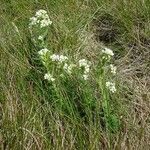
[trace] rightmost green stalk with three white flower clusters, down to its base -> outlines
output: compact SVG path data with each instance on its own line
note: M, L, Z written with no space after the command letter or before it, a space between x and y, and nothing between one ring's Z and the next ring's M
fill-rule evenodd
M110 59L114 56L114 52L109 48L103 48L102 57L99 59L97 76L99 76L99 86L102 96L102 108L104 111L104 120L106 125L106 131L108 132L108 137L111 139L111 133L114 131L118 124L113 124L114 116L113 110L110 104L110 95L117 91L115 82L107 81L109 76L114 77L117 71L117 67L110 64ZM117 117L116 117L117 118ZM112 120L112 123L111 123Z

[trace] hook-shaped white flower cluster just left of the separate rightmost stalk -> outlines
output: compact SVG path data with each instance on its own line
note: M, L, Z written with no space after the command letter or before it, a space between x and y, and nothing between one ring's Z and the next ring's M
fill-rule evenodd
M91 65L91 63L89 61L87 61L86 59L79 60L79 67L84 67L84 74L83 74L84 80L88 79L88 73L90 71L90 65Z

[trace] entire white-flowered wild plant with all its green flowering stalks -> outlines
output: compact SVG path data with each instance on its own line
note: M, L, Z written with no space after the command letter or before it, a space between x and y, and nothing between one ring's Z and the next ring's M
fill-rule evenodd
M74 85L73 82L78 82L78 80L79 82L82 81L87 83L86 86L88 86L88 84L90 85L89 81L90 73L92 71L92 63L85 58L81 58L78 61L72 61L67 55L53 53L51 50L49 50L44 39L48 34L48 26L51 24L52 21L50 20L48 13L45 10L39 10L36 12L34 17L30 18L29 29L31 31L31 35L35 35L33 38L35 44L40 48L38 54L46 69L46 73L43 75L43 78L50 82L54 87L57 97L60 98L61 106L67 105L67 107L70 107L70 105L68 106L68 104L64 104L62 101L67 85L61 85L61 81L65 81L67 84L69 84L69 82L74 79L72 80L72 85ZM35 32L33 32L34 29L36 29ZM104 110L106 129L110 132L112 128L110 125L110 120L112 121L112 118L114 118L111 117L110 94L115 93L117 89L115 82L110 80L108 77L114 77L117 68L113 64L110 64L110 60L114 56L113 51L109 48L103 48L101 52L101 58L97 65L97 76L102 95L102 107ZM68 79L70 79L70 81L68 81ZM63 94L60 92L62 90ZM85 93L88 92L89 91L86 91ZM88 97L87 99L91 101L92 97ZM89 101L86 100L86 106L88 106L87 104L89 104Z

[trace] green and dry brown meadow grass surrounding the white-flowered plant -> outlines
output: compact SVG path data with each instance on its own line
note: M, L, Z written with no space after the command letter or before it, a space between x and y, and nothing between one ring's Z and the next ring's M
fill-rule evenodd
M73 62L92 62L88 83L67 78L54 90L43 79L46 69L28 29L29 18L39 9L47 10L53 21L47 47ZM2 150L149 149L148 0L1 0L0 14ZM103 46L114 51L117 66L117 92L109 94L109 103L119 128L111 137L96 74Z

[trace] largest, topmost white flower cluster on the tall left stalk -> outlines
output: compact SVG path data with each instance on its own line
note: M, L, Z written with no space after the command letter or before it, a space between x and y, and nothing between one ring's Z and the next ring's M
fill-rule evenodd
M34 17L30 18L30 24L29 27L34 25L40 25L41 28L47 27L52 24L52 21L50 20L47 11L45 10L38 10Z

